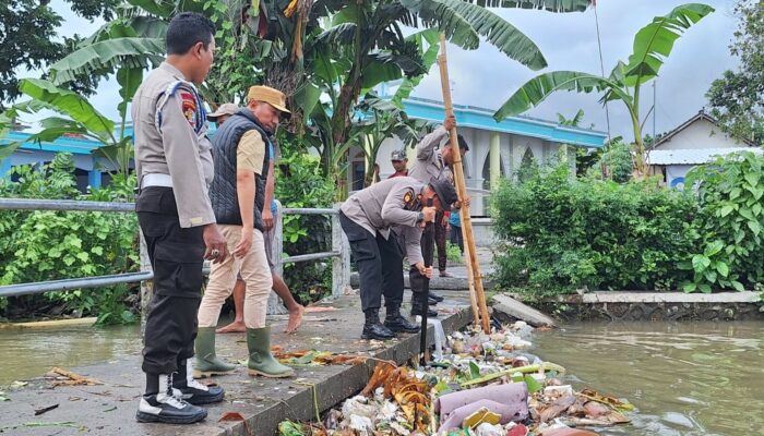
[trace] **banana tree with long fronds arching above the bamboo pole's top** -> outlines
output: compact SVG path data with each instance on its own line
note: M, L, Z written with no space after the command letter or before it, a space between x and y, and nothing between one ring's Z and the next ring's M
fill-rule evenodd
M343 143L350 129L350 114L358 97L372 84L403 74L421 74L421 59L410 56L402 27L435 28L465 49L475 49L484 37L509 58L539 70L547 65L539 48L487 8L535 8L554 12L583 11L590 0L379 0L345 2L318 1L313 9L332 14L333 26L319 39L333 53L344 56L348 69L337 82L338 100L332 113L334 142ZM385 53L380 57L380 53ZM403 74L402 74L403 73Z

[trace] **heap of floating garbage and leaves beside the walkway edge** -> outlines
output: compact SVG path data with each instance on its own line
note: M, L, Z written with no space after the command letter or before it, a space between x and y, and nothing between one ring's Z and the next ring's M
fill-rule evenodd
M454 332L442 358L426 367L380 362L363 390L322 422L284 421L279 434L587 436L597 433L580 427L630 422L628 401L588 388L576 391L563 384L564 367L526 353L533 330L516 322L491 335Z

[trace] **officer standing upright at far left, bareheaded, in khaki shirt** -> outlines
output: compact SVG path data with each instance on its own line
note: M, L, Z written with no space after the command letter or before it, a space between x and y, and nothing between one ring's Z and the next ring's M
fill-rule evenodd
M154 268L143 349L146 390L139 422L190 424L206 417L195 405L223 400L223 389L191 374L202 263L227 257L207 189L213 179L206 114L194 84L213 62L215 28L198 13L176 15L167 28L167 59L135 92L135 202Z

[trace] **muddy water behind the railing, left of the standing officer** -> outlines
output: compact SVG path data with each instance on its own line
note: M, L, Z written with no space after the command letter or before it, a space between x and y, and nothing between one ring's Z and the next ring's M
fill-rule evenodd
M39 377L53 366L108 362L142 349L140 325L0 328L0 386Z

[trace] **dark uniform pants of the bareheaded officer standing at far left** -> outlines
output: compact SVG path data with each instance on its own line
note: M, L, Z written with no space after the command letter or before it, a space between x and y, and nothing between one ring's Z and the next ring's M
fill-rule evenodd
M193 356L202 301L203 228L183 229L171 187L141 190L135 211L154 268L154 296L146 318L143 372L170 374Z

